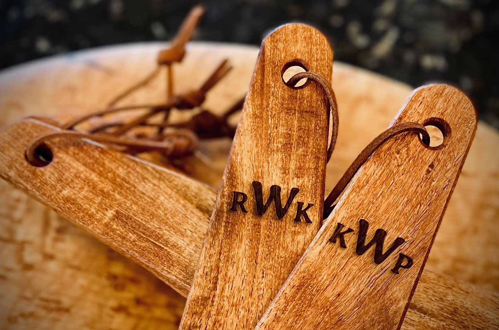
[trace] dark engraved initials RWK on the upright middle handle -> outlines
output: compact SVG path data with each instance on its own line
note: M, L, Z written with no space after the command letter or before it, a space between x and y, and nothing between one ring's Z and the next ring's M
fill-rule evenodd
M284 206L282 206L281 187L277 185L272 185L270 187L270 193L268 195L268 199L265 202L265 204L263 204L263 191L261 183L258 181L253 181L251 185L253 186L255 210L260 217L267 212L268 208L270 207L270 204L272 204L273 202L275 207L275 215L277 216L277 219L284 218L291 204L293 203L294 198L300 191L298 188L292 188L289 193L289 196L287 197L286 203L284 204ZM240 191L234 191L232 205L229 210L237 212L239 207L239 210L241 210L241 212L248 213L245 207L245 203L247 201L248 201L247 194ZM313 204L308 203L308 205L305 208L303 208L303 205L304 205L303 202L296 202L296 216L294 217L293 221L300 222L301 218L303 218L306 223L311 224L312 221L308 217L307 210L310 209L313 206Z

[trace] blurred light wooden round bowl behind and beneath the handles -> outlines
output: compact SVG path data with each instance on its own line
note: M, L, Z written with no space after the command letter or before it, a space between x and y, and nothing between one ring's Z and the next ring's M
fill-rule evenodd
M104 48L5 70L0 74L0 122L32 114L64 121L98 109L151 69L160 47ZM203 73L229 57L235 68L208 95L206 107L223 111L244 95L257 48L193 43L188 49L184 62L175 67L177 91L196 86L205 78ZM155 80L123 104L161 101L163 83L164 79ZM333 67L333 88L340 127L326 192L358 152L388 126L411 91L339 63ZM425 268L492 291L499 290L498 143L497 131L480 123ZM227 140L204 143L193 157L199 166L187 163L183 170L218 187L226 162L221 155L227 157L229 148ZM218 175L204 175L201 165ZM182 297L5 182L0 187L2 329L177 327Z

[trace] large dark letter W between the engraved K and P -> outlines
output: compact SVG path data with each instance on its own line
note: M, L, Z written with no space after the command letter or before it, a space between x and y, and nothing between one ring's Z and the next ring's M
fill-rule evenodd
M392 254L393 251L395 251L395 249L397 249L405 242L403 238L398 237L388 248L388 250L383 253L383 243L385 242L386 232L383 229L376 230L373 239L369 241L369 243L364 245L368 228L369 223L364 219L360 219L359 236L357 238L357 248L355 249L355 252L357 253L357 255L362 256L367 250L369 250L371 246L376 244L376 248L374 249L374 262L377 265L385 261L385 259L388 258L388 256Z

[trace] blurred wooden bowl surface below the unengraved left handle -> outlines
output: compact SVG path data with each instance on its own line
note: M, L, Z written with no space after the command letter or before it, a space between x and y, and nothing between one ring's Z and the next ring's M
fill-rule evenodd
M160 279L3 180L0 199L0 329L178 329Z

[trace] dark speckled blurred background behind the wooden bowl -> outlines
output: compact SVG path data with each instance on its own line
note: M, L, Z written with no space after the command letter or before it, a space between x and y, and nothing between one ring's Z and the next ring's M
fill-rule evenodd
M190 0L0 0L0 68L88 47L168 40ZM499 128L498 0L207 0L195 39L259 44L303 21L335 59L418 86L446 81Z

